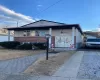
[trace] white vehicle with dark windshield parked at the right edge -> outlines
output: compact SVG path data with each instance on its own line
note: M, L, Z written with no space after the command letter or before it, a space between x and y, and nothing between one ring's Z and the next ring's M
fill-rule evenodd
M100 48L100 39L87 39L86 47Z

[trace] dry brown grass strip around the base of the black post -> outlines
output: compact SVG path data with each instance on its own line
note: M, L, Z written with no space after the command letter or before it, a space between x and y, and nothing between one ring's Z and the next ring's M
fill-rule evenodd
M49 57L49 60L41 58L37 60L33 65L28 67L24 73L34 74L34 75L53 75L57 69L68 60L75 51L60 52Z

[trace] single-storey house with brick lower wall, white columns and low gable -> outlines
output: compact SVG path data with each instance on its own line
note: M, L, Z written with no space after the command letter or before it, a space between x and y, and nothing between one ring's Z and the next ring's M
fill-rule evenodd
M49 48L76 49L82 45L83 32L78 24L65 24L54 21L39 20L21 27L6 28L8 35L14 30L14 41L45 43L45 34L50 34ZM10 37L8 36L10 41Z

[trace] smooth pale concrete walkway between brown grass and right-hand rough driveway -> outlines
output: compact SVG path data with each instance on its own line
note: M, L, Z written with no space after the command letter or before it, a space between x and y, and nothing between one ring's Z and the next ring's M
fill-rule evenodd
M78 80L77 73L80 67L83 54L83 51L79 51L74 54L69 59L69 61L65 62L65 64L53 76L65 78L62 80Z

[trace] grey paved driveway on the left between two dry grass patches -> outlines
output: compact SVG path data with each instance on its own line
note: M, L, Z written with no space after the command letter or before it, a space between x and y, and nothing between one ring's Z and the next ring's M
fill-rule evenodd
M1 60L0 61L0 73L4 74L19 74L22 73L28 66L35 62L39 57L45 54L37 54L33 56L26 56L22 58Z

